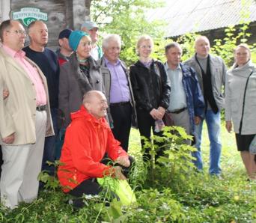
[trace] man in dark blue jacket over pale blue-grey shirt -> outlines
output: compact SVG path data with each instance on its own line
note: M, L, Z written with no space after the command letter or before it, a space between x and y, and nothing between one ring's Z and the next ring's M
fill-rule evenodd
M171 112L175 126L181 126L187 134L193 135L195 125L204 117L204 97L195 71L180 63L181 55L182 49L178 43L165 46L165 70L171 82L168 112ZM191 144L191 141L187 140L186 143Z

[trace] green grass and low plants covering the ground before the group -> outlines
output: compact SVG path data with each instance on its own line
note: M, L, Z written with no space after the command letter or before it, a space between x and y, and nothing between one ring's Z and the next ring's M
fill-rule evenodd
M85 208L76 211L68 204L67 195L59 189L49 189L40 192L34 203L21 204L11 212L1 207L0 222L256 222L256 183L246 181L234 134L222 126L223 180L207 174L206 126L202 141L203 173L195 173L189 166L183 153L186 149L174 149L171 162L163 159L152 174L141 162L138 130L132 129L129 152L135 156L137 167L130 184L135 189L137 205L121 207L113 201L106 207L102 201L85 199Z

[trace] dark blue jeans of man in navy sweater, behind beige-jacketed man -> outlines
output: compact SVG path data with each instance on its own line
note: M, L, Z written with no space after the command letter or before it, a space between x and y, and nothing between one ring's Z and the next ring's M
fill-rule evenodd
M46 137L43 148L42 171L47 171L51 176L55 174L55 167L48 165L46 161L55 162L55 144L58 135L58 109L51 109L52 125L55 135Z

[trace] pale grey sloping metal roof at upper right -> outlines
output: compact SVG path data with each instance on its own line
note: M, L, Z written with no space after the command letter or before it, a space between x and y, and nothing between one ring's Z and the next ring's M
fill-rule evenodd
M242 16L246 14L246 16ZM256 21L255 0L166 0L165 7L148 13L150 20L167 23L165 37Z

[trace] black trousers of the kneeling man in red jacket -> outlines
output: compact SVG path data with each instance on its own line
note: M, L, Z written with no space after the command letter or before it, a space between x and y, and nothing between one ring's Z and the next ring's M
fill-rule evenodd
M107 159L103 159L101 162L103 164L107 164L108 161L109 160ZM127 174L129 174L129 171L131 170L135 162L132 156L129 156L129 162L131 165L128 168L122 165L119 165L122 167L123 174L125 175L125 177L127 177ZM102 190L103 188L100 186L99 183L97 183L97 179L91 178L91 179L82 181L82 183L80 183L78 186L76 186L74 189L70 190L70 192L67 192L67 193L77 198L73 200L73 206L76 208L81 208L85 205L84 202L82 201L83 199L81 198L82 195L98 195Z

